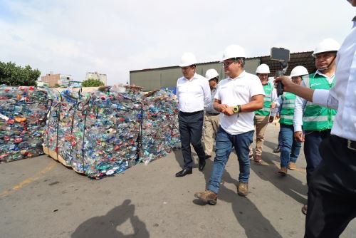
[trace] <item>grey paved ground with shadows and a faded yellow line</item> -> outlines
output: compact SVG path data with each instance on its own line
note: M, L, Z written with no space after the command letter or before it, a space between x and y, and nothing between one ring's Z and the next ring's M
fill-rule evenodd
M303 237L305 158L298 171L277 174L278 127L269 125L266 165L251 165L248 197L236 194L238 163L231 154L216 206L194 192L206 187L204 172L176 178L182 154L174 151L150 165L115 177L89 180L49 157L0 165L0 237ZM197 158L197 156L195 155ZM353 220L342 237L355 237Z

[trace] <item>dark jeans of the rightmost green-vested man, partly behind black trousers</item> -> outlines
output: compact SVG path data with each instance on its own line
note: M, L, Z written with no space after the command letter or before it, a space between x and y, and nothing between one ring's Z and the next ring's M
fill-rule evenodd
M307 184L316 167L318 167L321 156L319 153L320 143L330 137L330 130L305 130L304 155L307 161Z

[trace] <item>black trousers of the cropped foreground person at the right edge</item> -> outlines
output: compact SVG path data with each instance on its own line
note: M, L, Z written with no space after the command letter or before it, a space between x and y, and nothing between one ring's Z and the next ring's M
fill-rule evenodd
M356 151L331 135L319 152L323 160L309 184L305 237L339 237L356 217Z

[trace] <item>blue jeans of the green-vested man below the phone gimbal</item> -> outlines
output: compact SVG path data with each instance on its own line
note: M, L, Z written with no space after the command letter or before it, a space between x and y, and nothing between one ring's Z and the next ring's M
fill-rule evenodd
M289 162L296 162L302 144L294 139L293 125L281 124L281 167L288 167Z

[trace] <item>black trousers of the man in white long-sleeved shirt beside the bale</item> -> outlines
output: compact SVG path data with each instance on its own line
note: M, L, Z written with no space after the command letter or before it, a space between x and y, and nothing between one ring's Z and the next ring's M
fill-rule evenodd
M182 154L184 158L184 168L193 167L192 153L190 143L192 143L199 160L205 160L205 152L201 144L201 135L203 133L204 110L194 113L178 114L179 133L182 141Z

